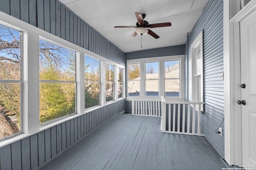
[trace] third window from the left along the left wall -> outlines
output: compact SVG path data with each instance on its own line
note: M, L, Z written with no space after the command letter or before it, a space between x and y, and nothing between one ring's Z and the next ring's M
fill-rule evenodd
M84 56L85 108L100 105L100 61Z

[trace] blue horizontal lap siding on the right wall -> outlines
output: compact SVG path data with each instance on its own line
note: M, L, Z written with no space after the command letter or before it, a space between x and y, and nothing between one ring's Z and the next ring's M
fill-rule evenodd
M223 1L209 0L192 29L185 44L185 98L191 101L191 54L190 45L203 30L204 41L204 102L202 133L224 157L224 136L215 133L224 118L224 80L219 80L223 70ZM188 54L187 54L187 47ZM188 62L187 62L188 60ZM187 89L188 86L188 89ZM224 132L224 123L221 125Z

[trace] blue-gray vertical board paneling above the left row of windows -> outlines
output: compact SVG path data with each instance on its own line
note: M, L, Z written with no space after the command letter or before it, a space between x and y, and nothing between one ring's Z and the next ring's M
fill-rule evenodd
M1 0L0 11L125 65L125 54L58 0Z

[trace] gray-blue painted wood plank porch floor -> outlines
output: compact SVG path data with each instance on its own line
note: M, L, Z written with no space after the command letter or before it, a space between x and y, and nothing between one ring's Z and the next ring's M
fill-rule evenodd
M162 133L160 117L120 114L44 166L44 170L221 170L205 137Z

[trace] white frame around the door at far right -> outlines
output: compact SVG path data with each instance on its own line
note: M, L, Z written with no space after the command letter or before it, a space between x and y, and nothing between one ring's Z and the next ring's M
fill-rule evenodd
M241 100L241 72L237 69L240 68L240 21L256 10L256 0L249 2L240 11L234 9L233 2L224 0L224 9L228 9L224 11L223 26L224 74L227 75L224 76L224 146L226 162L242 165L242 110L236 103ZM234 10L237 14L232 17Z

